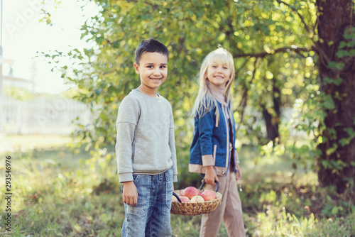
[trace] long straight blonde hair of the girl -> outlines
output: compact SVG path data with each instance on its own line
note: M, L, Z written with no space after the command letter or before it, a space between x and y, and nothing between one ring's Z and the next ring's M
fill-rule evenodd
M209 65L212 65L216 62L219 62L222 65L227 65L227 67L229 67L229 69L231 70L230 78L226 82L226 89L224 89L223 93L224 97L226 97L228 101L231 101L230 90L235 78L233 57L231 53L229 53L224 48L217 48L217 50L212 51L206 57L204 57L204 60L202 61L200 74L198 75L198 79L200 81L200 88L197 94L195 105L192 109L192 115L201 118L208 111L211 111L216 107L217 109L215 114L217 117L217 121L219 121L219 109L217 106L217 99L213 97L212 92L209 90L209 87L207 86L207 77L205 76Z

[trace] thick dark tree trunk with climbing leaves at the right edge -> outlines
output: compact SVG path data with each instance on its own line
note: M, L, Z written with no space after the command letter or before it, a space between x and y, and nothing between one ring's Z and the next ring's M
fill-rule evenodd
M354 5L352 0L317 0L316 4L320 40L315 50L319 55L320 90L332 97L335 105L334 109L326 106L325 110L318 179L321 185L336 185L337 192L343 193L354 184L355 177L354 163L351 164L355 162L355 138L344 143L351 137L347 131L355 128L355 58L339 58L336 54L341 41L351 41L344 38L344 32L355 26ZM348 52L351 49L354 47L344 48ZM329 62L344 62L345 66L329 68ZM334 82L337 78L342 78L342 83Z

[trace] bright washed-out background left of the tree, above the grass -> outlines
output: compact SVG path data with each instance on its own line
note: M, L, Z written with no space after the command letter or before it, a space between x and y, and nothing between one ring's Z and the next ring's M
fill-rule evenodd
M72 121L88 121L89 110L71 99L72 85L45 55L86 48L80 27L97 14L97 5L72 0L1 3L0 133L70 134ZM70 59L60 62L72 65L64 60ZM1 137L2 146L8 142Z

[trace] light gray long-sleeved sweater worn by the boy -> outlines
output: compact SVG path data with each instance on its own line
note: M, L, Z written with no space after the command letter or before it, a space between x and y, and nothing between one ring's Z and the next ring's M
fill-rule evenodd
M158 175L173 167L178 181L173 110L163 97L133 89L121 102L116 121L119 182L133 175Z

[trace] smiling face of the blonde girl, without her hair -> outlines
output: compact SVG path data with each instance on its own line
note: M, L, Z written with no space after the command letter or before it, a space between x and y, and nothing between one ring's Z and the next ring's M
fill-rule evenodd
M223 62L214 62L207 67L207 71L204 74L204 78L206 77L209 82L217 87L226 87L226 82L231 77L231 69Z

